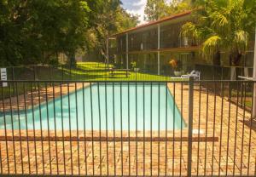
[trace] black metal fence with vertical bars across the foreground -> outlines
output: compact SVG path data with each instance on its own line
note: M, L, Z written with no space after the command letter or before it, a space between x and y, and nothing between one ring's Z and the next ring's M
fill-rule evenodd
M255 82L0 83L1 175L256 174Z

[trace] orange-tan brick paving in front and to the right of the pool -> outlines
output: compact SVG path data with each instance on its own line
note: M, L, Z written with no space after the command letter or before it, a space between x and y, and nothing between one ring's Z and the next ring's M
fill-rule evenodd
M173 83L168 87L174 95ZM222 100L212 93L207 97L205 89L201 91L201 101L199 95L199 88L195 86L192 174L253 175L256 123L251 120L251 114L227 98ZM186 123L188 99L188 86L181 87L177 83L175 101ZM69 131L63 133L64 138L61 131L44 130L41 134L41 131L29 130L26 134L26 130L8 130L5 134L1 130L1 174L187 174L187 128L160 131L160 134L154 131L153 141L148 131L145 139L142 131L138 131L137 136L136 132L130 132L130 139L125 131L123 138L119 131L115 136L113 131L108 131L108 138L105 131L101 136L94 131L93 138L91 131L86 131L85 136L84 131L72 131L71 135Z

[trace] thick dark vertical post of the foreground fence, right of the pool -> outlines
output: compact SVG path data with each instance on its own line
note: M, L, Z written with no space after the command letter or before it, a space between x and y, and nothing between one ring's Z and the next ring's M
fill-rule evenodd
M191 177L192 169L192 130L193 130L193 101L194 101L194 77L189 77L189 141L188 141L188 174Z

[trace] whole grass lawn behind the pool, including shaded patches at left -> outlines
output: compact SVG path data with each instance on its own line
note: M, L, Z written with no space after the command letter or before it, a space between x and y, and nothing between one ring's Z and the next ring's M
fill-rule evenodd
M109 65L108 67L112 67ZM8 73L9 74L9 73ZM23 68L15 71L15 80L32 80L33 76L32 68ZM71 81L180 81L184 79L173 79L171 77L158 76L154 74L147 74L142 72L129 71L128 77L122 71L115 71L114 76L111 72L106 70L106 65L98 62L79 62L76 68L67 67L38 67L36 71L37 80L71 80ZM10 75L10 74L9 74ZM40 87L44 87L44 83L40 83ZM32 89L37 89L37 85L32 84ZM10 89L10 91L9 91ZM30 83L25 84L25 90L23 88L23 83L18 83L16 85L11 84L10 88L3 88L3 93L0 88L0 99L9 98L9 95L15 95L16 91L19 94L29 92L31 90Z

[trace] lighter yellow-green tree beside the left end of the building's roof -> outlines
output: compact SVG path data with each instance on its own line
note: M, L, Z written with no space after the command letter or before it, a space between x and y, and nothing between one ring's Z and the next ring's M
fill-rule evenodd
M95 54L98 60L106 59L106 38L119 31L135 27L138 16L129 14L121 7L119 0L108 0L102 3L101 14L96 18L96 24L86 32L86 53Z

